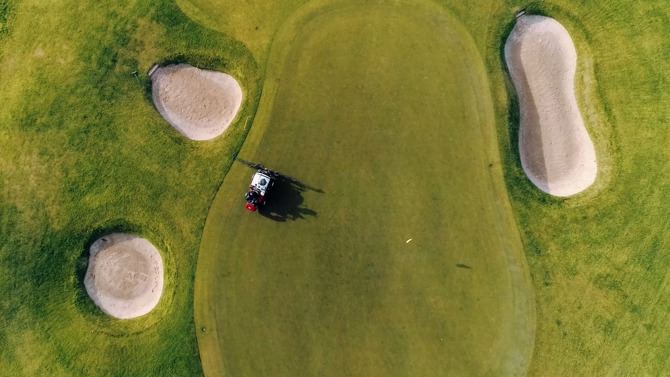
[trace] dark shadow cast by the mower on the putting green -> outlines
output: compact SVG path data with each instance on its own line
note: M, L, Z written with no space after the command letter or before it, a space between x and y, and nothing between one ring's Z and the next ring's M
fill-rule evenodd
M268 202L258 209L258 213L274 220L286 221L304 219L305 216L316 217L316 211L302 205L304 187L291 184L288 181L277 180Z

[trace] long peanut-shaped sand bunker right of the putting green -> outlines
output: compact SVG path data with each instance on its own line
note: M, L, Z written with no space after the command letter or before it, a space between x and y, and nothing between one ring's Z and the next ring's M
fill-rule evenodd
M519 95L519 151L528 178L556 196L586 189L596 178L596 155L577 107L570 34L553 18L521 16L505 60Z

